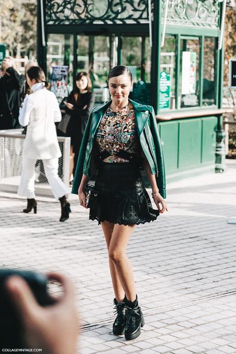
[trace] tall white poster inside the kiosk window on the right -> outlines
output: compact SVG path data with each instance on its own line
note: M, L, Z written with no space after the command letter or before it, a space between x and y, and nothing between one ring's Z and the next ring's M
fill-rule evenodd
M196 52L182 54L182 94L196 92Z

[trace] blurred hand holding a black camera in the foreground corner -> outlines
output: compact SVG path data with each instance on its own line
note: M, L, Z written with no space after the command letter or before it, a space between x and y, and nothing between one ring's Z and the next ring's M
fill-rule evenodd
M78 336L78 317L74 306L72 282L58 273L48 274L47 280L62 284L64 293L60 298L49 297L44 278L34 272L0 271L0 282L9 298L11 307L2 303L5 325L0 332L1 348L42 348L43 353L75 354ZM24 274L23 274L24 273ZM2 277L1 277L2 274ZM23 277L22 277L23 274ZM39 289L41 288L41 291ZM35 290L40 296L35 298ZM5 308L4 308L5 306ZM16 317L16 322L9 323ZM16 323L16 327L14 325ZM8 326L9 325L9 326ZM8 332L6 333L6 329ZM11 329L10 329L11 328ZM10 330L10 333L9 333ZM5 332L5 335L4 335ZM2 333L2 334L1 334ZM11 341L8 342L8 338Z

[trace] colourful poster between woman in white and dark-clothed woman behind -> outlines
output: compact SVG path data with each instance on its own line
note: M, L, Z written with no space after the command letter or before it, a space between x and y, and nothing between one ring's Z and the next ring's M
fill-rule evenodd
M52 67L51 91L56 97L68 96L68 65L55 65Z

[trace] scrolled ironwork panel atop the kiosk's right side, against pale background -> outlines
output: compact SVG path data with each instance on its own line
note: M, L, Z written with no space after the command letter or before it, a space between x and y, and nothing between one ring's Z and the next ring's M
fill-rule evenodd
M162 0L164 11L166 0ZM217 28L218 0L169 0L167 25Z

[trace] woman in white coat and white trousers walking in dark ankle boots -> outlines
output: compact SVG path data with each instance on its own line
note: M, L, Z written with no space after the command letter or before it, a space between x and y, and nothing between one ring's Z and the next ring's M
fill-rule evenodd
M58 177L58 158L61 150L57 141L55 122L62 119L61 111L53 92L46 89L44 71L37 66L26 73L27 83L33 93L26 96L19 113L19 124L27 126L23 148L23 169L18 194L27 197L28 213L37 210L34 194L35 163L42 160L48 182L55 199L60 200L62 214L60 221L69 218L70 204L66 194L70 191Z

